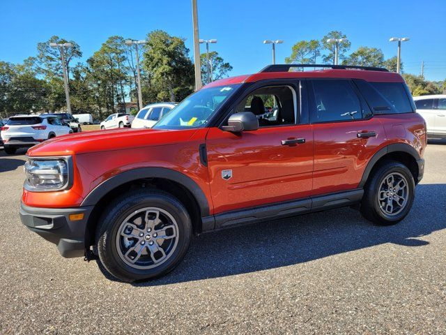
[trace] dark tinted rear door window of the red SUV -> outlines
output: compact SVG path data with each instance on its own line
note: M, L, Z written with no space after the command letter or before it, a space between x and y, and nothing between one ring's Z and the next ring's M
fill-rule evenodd
M349 80L313 80L312 84L316 105L311 122L362 119L360 99Z

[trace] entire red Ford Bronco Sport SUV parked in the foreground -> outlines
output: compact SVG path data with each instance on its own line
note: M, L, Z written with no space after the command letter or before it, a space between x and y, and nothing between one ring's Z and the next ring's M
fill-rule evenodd
M392 225L424 172L426 126L381 68L268 66L208 84L152 129L29 149L22 223L122 281L167 274L192 234L351 206ZM278 228L280 229L280 228Z

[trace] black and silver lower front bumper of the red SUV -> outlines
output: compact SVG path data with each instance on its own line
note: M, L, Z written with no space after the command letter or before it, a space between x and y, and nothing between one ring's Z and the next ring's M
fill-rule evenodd
M93 206L75 208L40 208L20 204L20 220L26 228L56 244L63 257L81 257L85 252L86 224ZM79 221L70 221L70 214L84 214Z

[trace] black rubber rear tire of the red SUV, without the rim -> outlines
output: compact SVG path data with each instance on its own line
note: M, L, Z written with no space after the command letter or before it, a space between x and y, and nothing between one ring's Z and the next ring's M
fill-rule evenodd
M392 172L398 172L406 178L406 181L408 183L409 195L408 195L408 202L406 203L406 206L403 208L403 210L399 212L399 214L390 217L386 216L380 209L378 192L385 177L387 177L387 175L391 174ZM374 212L376 216L378 216L379 221L387 225L392 225L394 223L398 223L399 221L401 221L404 217L406 217L406 215L410 211L410 208L412 207L413 204L413 200L415 198L415 181L413 180L413 175L410 173L410 170L408 170L408 168L406 168L405 165L402 165L400 163L388 163L387 165L384 165L383 168L378 170L376 178L374 178L374 183L371 187L371 197L372 197L371 202L374 207Z

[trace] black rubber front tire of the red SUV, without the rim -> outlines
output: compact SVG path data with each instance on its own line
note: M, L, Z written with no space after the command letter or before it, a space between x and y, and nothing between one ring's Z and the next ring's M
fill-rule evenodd
M187 214L183 204L175 198L162 193L139 194L125 198L127 201L118 204L100 221L102 229L98 251L102 264L110 273L124 281L141 281L166 274L180 262L189 247L192 235L190 216ZM144 207L164 209L175 218L178 225L178 244L176 249L166 262L153 269L135 269L130 267L118 255L116 247L116 234L118 234L118 228L121 223L132 212Z

